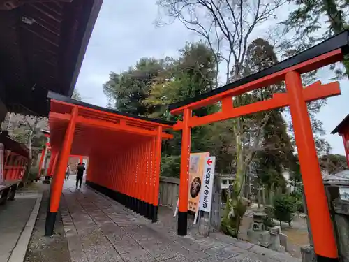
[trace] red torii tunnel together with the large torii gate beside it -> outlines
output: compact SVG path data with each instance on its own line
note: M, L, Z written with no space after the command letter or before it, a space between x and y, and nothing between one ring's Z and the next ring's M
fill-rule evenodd
M156 222L161 141L172 138L166 133L168 130L181 130L177 232L186 235L191 128L289 106L315 254L318 261L338 261L306 103L339 95L339 83L322 85L319 81L303 87L301 75L343 60L343 56L348 54L348 44L349 33L343 31L263 71L188 101L174 103L169 106L170 112L182 115L182 120L177 123L99 108L50 92L50 150L56 163L52 163L48 170L53 176L45 235L53 233L70 155L89 157L87 185ZM234 96L281 81L285 81L286 92L276 93L272 99L239 107L233 104ZM220 112L203 117L193 115L193 110L218 102L221 103Z

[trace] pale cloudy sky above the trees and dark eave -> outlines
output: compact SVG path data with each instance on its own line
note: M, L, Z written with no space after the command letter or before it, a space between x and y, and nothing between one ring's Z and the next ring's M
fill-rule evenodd
M282 20L279 12L278 18ZM188 31L180 22L166 27L156 27L158 17L156 0L104 0L84 56L76 88L82 100L99 106L107 106L103 83L109 73L121 73L135 65L141 57L175 57L187 41L198 36ZM268 27L263 24L263 27ZM257 28L251 38L263 36L265 28ZM318 73L323 83L331 82L327 68ZM329 98L318 114L325 127L325 138L332 146L332 153L345 154L343 141L331 131L349 114L349 81L341 80L341 96Z

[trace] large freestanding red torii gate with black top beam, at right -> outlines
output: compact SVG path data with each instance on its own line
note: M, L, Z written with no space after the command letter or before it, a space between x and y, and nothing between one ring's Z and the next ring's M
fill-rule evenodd
M313 244L318 261L338 261L336 242L329 208L322 184L322 176L315 150L313 132L306 102L341 94L338 82L322 85L315 82L303 87L301 74L341 61L348 54L348 31L329 38L313 48L279 64L232 82L224 87L201 94L193 99L170 105L172 115L183 115L183 121L174 125L182 131L181 174L179 185L178 234L186 235L188 211L188 171L191 152L191 128L235 117L290 106L295 140L301 166L304 193L311 222ZM232 98L254 89L285 81L286 92L274 94L272 99L237 108ZM221 101L220 112L203 117L193 117L192 111Z

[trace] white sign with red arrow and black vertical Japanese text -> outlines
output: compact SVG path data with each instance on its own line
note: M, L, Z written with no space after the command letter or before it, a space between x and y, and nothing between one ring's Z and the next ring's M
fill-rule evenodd
M212 191L214 187L214 166L216 157L205 158L205 168L202 175L202 189L200 194L200 210L211 212Z

